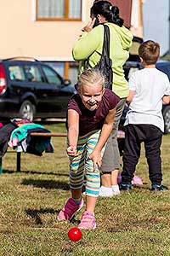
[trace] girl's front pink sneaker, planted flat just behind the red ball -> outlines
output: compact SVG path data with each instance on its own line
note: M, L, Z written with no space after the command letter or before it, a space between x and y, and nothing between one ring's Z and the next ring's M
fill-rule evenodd
M91 212L85 211L82 214L81 223L78 225L78 228L82 230L94 230L96 228L94 214Z

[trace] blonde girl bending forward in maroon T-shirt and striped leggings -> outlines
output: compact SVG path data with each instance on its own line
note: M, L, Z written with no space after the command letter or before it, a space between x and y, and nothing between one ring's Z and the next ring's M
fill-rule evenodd
M71 220L82 208L82 186L86 177L86 211L82 214L81 229L95 229L94 209L99 195L102 155L112 131L119 97L105 89L105 78L98 70L88 69L77 83L77 94L67 108L66 149L70 158L71 198L59 212L59 220Z

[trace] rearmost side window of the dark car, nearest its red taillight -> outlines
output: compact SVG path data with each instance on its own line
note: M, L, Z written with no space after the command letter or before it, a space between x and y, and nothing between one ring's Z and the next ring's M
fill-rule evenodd
M26 76L25 76L23 68L18 65L9 66L8 73L9 73L10 80L18 80L18 81L26 80Z

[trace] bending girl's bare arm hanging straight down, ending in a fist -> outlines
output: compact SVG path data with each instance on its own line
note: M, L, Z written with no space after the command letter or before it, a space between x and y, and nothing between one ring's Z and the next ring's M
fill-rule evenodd
M67 138L69 146L66 149L70 156L77 156L77 141L79 135L79 114L74 109L68 110Z

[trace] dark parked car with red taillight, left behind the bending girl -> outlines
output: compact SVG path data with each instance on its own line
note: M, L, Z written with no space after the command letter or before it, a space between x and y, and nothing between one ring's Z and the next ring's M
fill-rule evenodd
M65 118L67 102L74 93L70 80L41 61L0 61L1 118Z

